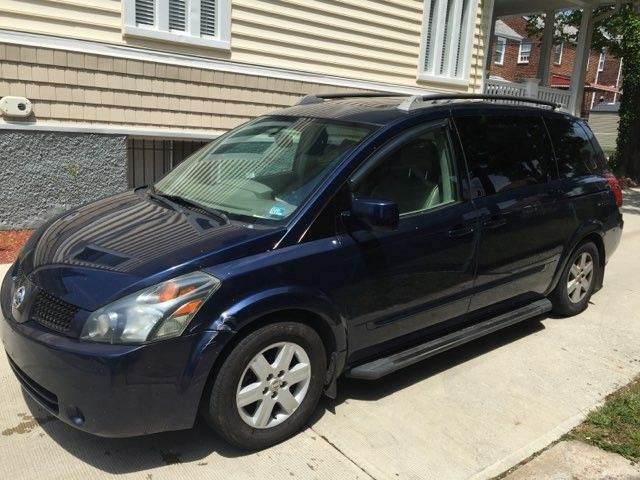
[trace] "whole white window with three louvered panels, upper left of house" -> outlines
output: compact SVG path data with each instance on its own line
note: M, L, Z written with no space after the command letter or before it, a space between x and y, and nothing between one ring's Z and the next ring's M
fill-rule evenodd
M231 0L122 0L125 35L229 48Z

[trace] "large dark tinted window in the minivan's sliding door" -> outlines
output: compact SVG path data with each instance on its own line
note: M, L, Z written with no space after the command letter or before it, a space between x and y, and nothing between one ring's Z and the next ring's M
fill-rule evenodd
M542 119L507 115L456 120L475 196L550 178L551 148Z

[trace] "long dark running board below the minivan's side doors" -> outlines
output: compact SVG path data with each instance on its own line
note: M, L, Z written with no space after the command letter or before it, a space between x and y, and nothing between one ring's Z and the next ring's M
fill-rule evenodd
M438 353L549 311L551 311L551 302L546 298L538 300L525 307L476 323L422 345L359 365L349 370L346 376L362 380L377 380Z

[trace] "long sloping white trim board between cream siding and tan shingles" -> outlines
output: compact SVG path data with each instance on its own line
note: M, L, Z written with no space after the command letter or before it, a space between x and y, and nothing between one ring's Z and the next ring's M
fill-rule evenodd
M126 58L128 60L164 63L168 65L177 65L180 67L200 68L203 70L215 70L221 72L238 73L242 75L253 75L278 78L283 80L294 80L299 82L319 83L322 85L331 85L335 87L376 90L381 92L401 93L406 95L424 95L428 93L437 93L417 86L409 87L392 83L355 80L346 77L320 75L315 73L299 72L295 70L287 70L275 67L262 67L258 65L249 65L244 63L198 57L195 55L160 52L157 50L134 48L125 45L106 44L88 40L77 40L49 35L38 35L34 33L13 32L1 29L0 43L10 43L14 45L25 45L40 48L52 48L56 50L89 53L93 55L104 55L116 58Z

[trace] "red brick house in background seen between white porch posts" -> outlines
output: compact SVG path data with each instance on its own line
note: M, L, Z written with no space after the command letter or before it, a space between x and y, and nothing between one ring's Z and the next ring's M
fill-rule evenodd
M514 15L500 18L496 22L492 47L490 75L493 78L509 82L538 78L542 45L540 39L528 37L525 17ZM563 42L553 46L549 86L569 88L576 54L577 46L574 43ZM601 101L613 103L618 100L622 86L621 65L620 59L607 52L590 51L582 107L584 116Z

